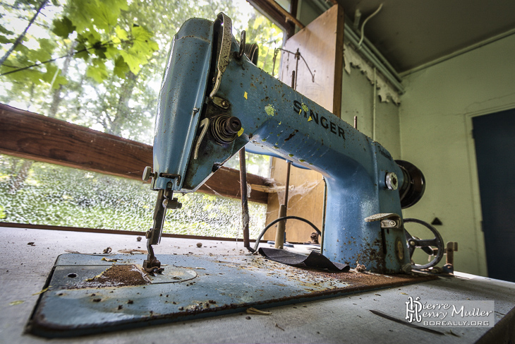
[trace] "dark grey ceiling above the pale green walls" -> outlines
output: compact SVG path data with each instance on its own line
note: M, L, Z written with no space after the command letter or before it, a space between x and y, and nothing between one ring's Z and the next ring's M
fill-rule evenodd
M347 25L356 9L365 37L398 73L420 68L498 35L515 33L514 0L337 0ZM359 27L360 28L360 27Z

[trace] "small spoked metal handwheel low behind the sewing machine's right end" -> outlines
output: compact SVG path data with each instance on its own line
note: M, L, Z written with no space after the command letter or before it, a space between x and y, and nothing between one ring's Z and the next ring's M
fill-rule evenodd
M423 220L418 220L416 218L405 218L404 223L418 223L420 225L427 227L435 235L435 237L432 239L419 239L418 237L413 237L411 234L409 234L409 232L406 230L406 227L404 228L406 242L408 242L408 251L410 259L413 256L413 252L417 248L422 249L425 253L427 253L430 256L435 256L435 258L427 264L419 265L413 263L411 265L412 268L420 270L424 268L431 268L432 266L437 265L437 263L439 263L440 260L442 260L442 257L444 256L444 240L442 239L440 233L436 230L435 227L433 227L429 223L426 223ZM436 249L433 249L432 247L436 247Z

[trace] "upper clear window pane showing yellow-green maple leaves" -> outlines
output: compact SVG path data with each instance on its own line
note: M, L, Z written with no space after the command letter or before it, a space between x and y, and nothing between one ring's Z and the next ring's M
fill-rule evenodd
M53 0L38 13L40 3L0 3L0 102L148 144L170 42L188 18L226 13L235 37L247 30L260 45L265 71L282 44L245 0Z

